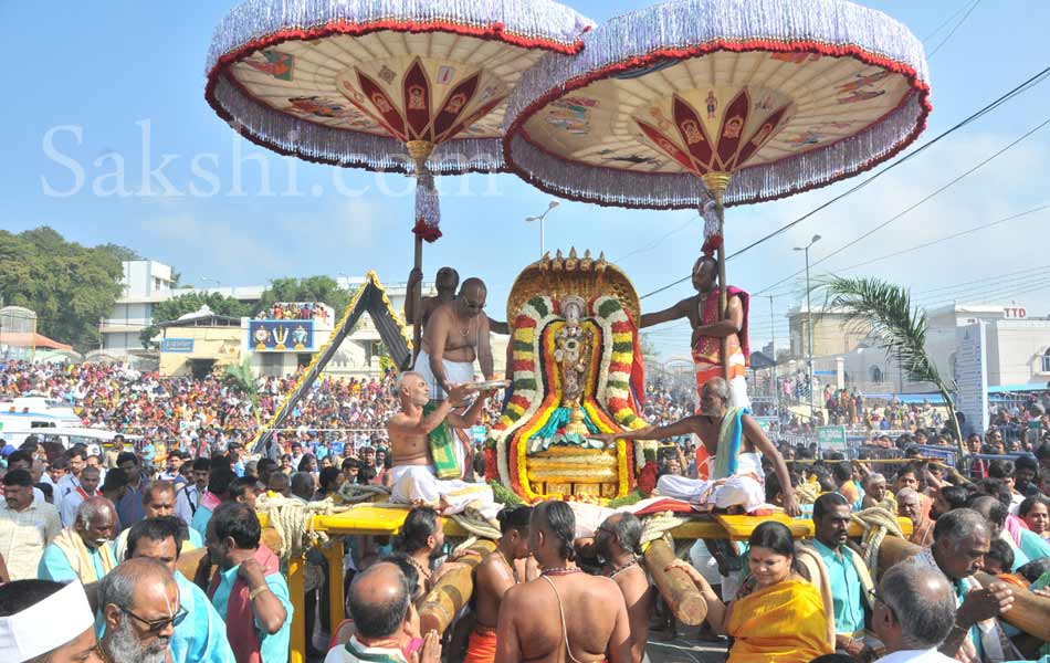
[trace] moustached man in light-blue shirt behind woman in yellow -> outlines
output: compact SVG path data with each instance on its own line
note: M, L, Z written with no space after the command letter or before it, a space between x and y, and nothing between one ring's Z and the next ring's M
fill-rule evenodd
M813 503L812 549L823 562L821 585L834 607L836 650L863 660L864 612L871 611L871 575L864 560L847 545L850 503L839 493L825 493Z

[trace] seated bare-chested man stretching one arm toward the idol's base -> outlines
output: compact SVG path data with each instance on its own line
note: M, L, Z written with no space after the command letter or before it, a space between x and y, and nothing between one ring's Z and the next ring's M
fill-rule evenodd
M648 427L628 433L592 435L606 444L613 440L663 440L695 434L707 453L715 457L711 481L665 474L657 482L661 495L685 499L715 508L741 506L750 509L766 501L762 457L773 462L784 486L784 511L790 516L801 513L784 456L773 445L745 408L729 408L725 380L712 378L701 391L701 413L662 427Z

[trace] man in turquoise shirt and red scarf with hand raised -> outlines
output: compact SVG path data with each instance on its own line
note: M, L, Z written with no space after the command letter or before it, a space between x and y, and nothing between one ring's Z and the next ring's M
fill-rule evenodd
M292 601L277 557L260 543L262 527L246 504L220 505L208 523L208 555L218 566L208 596L225 621L227 638L239 660L259 656L287 663Z

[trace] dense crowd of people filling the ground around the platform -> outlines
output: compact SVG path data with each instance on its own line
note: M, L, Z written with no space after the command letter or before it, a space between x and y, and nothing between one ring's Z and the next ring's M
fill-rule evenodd
M286 661L295 609L286 569L262 540L258 501L321 501L348 484L389 487L392 450L369 429L381 429L399 406L392 376L326 379L272 445L245 449L256 417L293 385L269 378L251 406L214 378L8 364L3 396L62 399L85 423L147 435L135 448L117 439L108 450L76 445L57 455L32 436L0 450L0 660L36 663L62 650L93 663ZM1042 643L1019 636L1009 614L1016 592L1050 596L1050 444L1042 440L1050 420L1038 403L1026 406L997 411L988 431L967 440L967 476L923 457L922 446L954 448L944 425L876 435L902 452L900 463L818 460L819 450L781 444L790 494L806 503L815 536L796 540L766 522L741 544L697 541L687 559L662 569L681 570L703 598L701 638L725 643L731 663L1037 657ZM694 407L690 390L653 380L643 414L666 425ZM485 408L491 423L498 401ZM1014 440L1010 425L1035 432ZM329 428L357 430L329 436ZM701 472L693 436L668 441L658 486ZM985 456L1011 452L1014 460ZM766 502L786 505L785 477L768 462L759 471ZM847 536L851 518L879 523L874 512L906 518L915 546L881 580L864 544ZM643 524L616 513L581 535L587 525L576 513L563 502L500 513L496 552L475 571L477 625L469 642L424 633L419 621L423 597L463 561L449 555L439 512L412 508L395 538L349 537L348 619L328 622L327 573L307 572L305 653L330 663L639 663L650 628L661 628L650 618L669 625L674 613L652 589L657 570L641 561ZM307 568L326 564L307 557ZM4 640L4 629L39 631L43 610L69 619L48 636Z

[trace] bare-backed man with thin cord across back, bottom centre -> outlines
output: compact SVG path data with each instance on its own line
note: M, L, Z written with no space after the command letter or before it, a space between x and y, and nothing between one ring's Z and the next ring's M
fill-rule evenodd
M575 535L568 504L543 502L533 509L528 547L540 577L503 597L496 663L632 663L623 594L609 578L576 566Z

